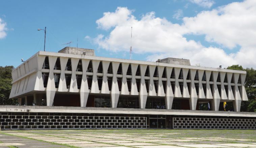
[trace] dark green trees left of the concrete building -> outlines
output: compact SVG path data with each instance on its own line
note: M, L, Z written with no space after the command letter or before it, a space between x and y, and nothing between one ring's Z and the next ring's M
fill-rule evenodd
M16 105L17 99L9 99L11 92L11 71L14 66L0 66L0 105Z

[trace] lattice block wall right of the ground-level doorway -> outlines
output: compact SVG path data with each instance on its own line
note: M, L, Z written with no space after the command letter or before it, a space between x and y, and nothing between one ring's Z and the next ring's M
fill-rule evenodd
M256 119L174 117L173 129L256 129Z

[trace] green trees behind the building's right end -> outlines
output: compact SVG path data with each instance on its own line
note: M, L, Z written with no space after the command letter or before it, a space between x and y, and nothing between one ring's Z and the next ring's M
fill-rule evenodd
M248 96L248 101L241 102L240 111L256 112L256 70L253 68L244 69L241 65L228 66L227 69L245 70L247 72L245 90Z

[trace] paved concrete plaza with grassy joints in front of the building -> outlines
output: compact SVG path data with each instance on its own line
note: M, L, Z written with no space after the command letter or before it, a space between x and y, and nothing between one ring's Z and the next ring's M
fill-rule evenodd
M0 148L256 148L256 131L19 130L1 131L0 141Z

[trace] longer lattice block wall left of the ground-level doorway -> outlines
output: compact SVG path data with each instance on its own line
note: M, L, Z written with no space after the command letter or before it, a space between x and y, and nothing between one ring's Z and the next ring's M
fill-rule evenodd
M38 115L37 113L10 115L1 112L1 129L145 129L147 117Z

